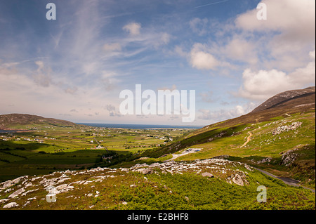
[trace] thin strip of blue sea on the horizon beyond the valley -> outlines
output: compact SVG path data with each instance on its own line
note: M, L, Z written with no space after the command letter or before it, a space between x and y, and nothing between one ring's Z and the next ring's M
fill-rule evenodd
M201 129L203 126L177 126L166 124L96 124L96 123L77 123L98 128L114 129Z

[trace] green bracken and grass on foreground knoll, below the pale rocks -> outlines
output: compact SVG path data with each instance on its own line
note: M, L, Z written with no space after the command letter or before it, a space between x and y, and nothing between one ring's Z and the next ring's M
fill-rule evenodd
M241 169L239 167L239 169ZM96 181L101 174L112 177ZM55 178L58 176L51 176ZM249 171L249 185L239 186L227 183L222 178L209 178L197 173L141 174L137 172L117 171L117 173L85 173L70 176L74 190L57 195L55 203L44 199L47 192L38 189L34 180L26 197L15 199L25 204L28 198L34 198L21 209L179 209L179 210L229 210L229 209L315 209L315 194L301 187L290 187L282 181L265 176L258 171ZM41 179L40 179L41 180ZM91 181L78 184L80 181ZM257 202L257 187L267 187L267 202ZM1 193L0 199L8 197ZM43 199L43 200L42 200Z

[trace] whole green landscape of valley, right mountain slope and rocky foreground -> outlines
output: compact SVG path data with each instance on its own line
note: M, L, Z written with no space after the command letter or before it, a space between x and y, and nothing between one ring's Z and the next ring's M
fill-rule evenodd
M314 210L315 88L294 93L202 129L15 123L0 209Z

